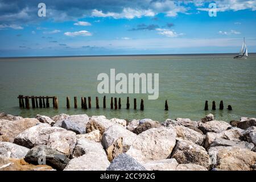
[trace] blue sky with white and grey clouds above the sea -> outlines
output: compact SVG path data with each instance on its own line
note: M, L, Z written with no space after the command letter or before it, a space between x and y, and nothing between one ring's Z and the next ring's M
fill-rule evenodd
M243 37L250 54L255 32L256 0L0 0L0 57L235 53Z

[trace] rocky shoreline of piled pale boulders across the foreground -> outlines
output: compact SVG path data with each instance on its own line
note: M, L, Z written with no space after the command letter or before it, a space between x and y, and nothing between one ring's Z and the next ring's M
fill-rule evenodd
M22 118L0 113L0 171L256 170L256 118Z

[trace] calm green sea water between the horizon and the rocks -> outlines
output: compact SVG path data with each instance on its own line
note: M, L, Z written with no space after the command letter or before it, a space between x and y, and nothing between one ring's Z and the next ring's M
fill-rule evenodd
M233 59L234 55L155 55L155 56L94 56L94 57L30 57L0 59L0 111L35 117L36 114L105 115L107 118L151 118L163 122L167 118L198 120L208 113L216 119L230 121L240 117L256 117L256 55L249 59ZM99 73L159 73L159 98L148 100L148 94L99 94ZM57 96L59 109L19 109L18 95ZM106 96L107 108L102 108ZM71 109L66 109L66 97ZM78 109L73 109L77 96ZM81 96L92 97L92 109L82 110ZM95 97L100 100L96 109ZM130 97L130 109L126 97ZM110 97L121 97L122 109L110 109ZM137 98L137 110L133 109ZM139 110L143 98L144 111ZM168 100L169 110L164 110ZM204 111L204 102L209 110ZM218 110L220 101L224 110ZM216 101L216 110L211 110ZM31 105L31 103L30 103ZM233 110L226 109L232 105ZM52 104L50 104L52 107Z

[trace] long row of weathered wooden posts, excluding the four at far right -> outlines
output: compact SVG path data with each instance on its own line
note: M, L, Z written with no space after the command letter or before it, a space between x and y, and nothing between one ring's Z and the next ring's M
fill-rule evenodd
M58 99L56 96L22 96L19 95L19 107L20 108L26 108L26 109L30 109L30 98L31 98L31 102L32 102L32 108L48 108L49 107L49 99L52 99L52 106L55 109L58 109ZM38 99L39 99L39 105L38 105ZM46 99L46 102L45 102ZM25 100L25 104L24 104L24 100ZM69 96L66 98L67 100L67 109L70 109L70 98ZM114 100L114 101L113 101ZM82 109L91 109L92 108L92 104L91 104L91 97L88 97L88 106L87 106L87 98L86 97L81 97L81 108ZM137 99L134 98L133 100L133 105L134 105L134 109L137 109ZM122 105L121 105L121 98L118 98L118 103L117 103L117 97L111 97L111 101L110 101L110 109L121 109ZM77 109L77 97L74 97L74 108ZM106 96L103 97L103 108L106 108ZM98 104L98 97L96 97L96 109L100 109L100 106ZM127 97L126 100L126 109L130 109L130 98ZM143 99L141 99L141 110L144 110L144 101ZM165 102L165 109L164 110L168 110L168 102L166 100Z

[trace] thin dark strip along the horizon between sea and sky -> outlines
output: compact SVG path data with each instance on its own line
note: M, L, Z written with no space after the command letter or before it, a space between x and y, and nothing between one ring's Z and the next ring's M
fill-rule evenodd
M256 52L250 53L255 55ZM133 56L207 56L207 55L237 55L236 53L180 53L180 54L142 54L142 55L74 55L74 56L19 56L19 57L0 57L1 59L24 59L24 58L58 58L58 57L133 57Z

